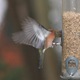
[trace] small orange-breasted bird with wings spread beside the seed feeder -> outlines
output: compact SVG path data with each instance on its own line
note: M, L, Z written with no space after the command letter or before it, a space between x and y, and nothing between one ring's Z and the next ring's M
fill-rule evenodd
M12 40L15 43L30 45L39 49L39 68L42 68L44 53L48 48L55 45L54 39L56 36L61 36L61 31L55 31L53 29L48 30L36 20L27 17L22 22L22 31L13 33Z

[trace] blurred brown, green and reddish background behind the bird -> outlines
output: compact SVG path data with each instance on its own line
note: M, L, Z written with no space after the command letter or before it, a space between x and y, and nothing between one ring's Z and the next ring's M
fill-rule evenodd
M47 29L61 30L61 12L61 0L0 0L0 80L61 80L61 46L45 52L44 68L39 70L38 50L11 39L26 16Z

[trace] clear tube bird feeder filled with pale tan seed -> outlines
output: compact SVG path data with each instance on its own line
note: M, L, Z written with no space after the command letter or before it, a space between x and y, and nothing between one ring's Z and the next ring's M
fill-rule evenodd
M62 0L62 78L80 80L80 0Z

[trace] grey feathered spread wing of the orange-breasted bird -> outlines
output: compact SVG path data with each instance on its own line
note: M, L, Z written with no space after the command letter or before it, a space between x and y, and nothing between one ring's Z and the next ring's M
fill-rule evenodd
M50 34L50 31L29 17L23 22L22 29L21 32L13 33L13 41L35 48L41 48L44 45L45 38Z

